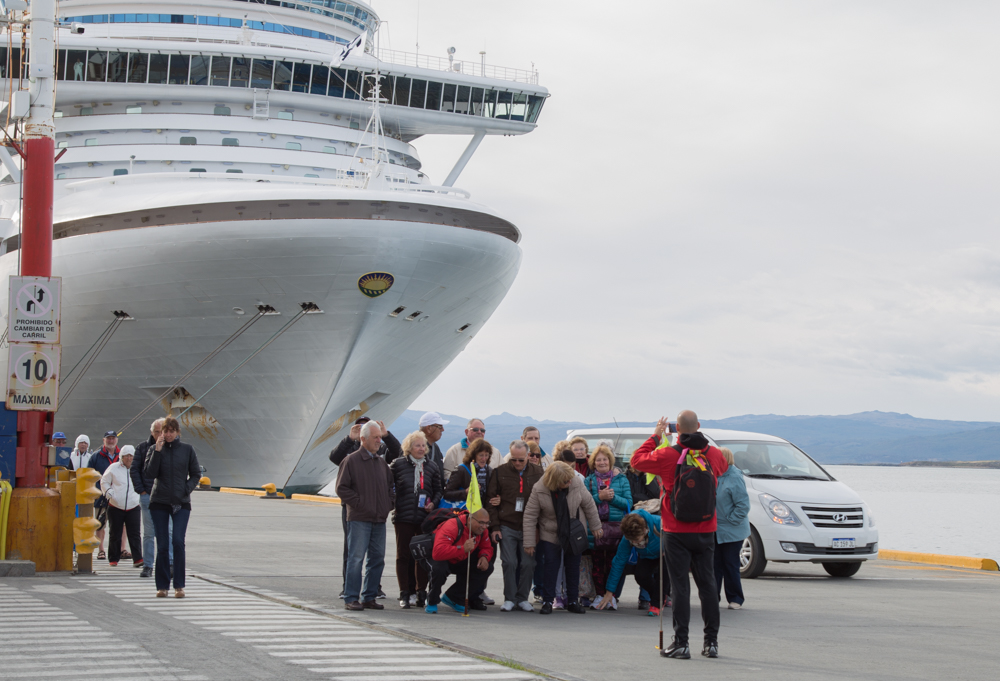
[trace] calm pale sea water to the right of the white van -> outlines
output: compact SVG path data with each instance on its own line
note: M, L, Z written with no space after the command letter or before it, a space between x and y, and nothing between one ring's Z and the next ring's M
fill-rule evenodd
M867 502L880 548L1000 560L1000 470L824 468Z

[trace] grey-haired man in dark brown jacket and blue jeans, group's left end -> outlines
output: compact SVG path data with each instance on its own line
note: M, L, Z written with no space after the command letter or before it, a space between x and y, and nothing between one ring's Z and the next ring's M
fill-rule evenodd
M395 504L392 472L379 456L382 428L375 421L361 426L361 448L340 466L337 496L347 507L347 574L344 607L382 610L378 585L385 568L385 520ZM364 591L361 565L364 562ZM360 598L363 602L359 602Z

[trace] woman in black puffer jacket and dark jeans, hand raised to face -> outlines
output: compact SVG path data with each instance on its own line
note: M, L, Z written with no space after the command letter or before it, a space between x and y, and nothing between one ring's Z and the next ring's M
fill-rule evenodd
M166 598L171 579L174 597L184 598L184 536L191 517L191 492L198 486L201 466L194 447L181 442L181 426L173 416L163 421L156 444L146 453L145 477L153 481L149 513L156 528L156 597ZM173 536L169 533L173 520ZM168 542L174 548L171 576Z

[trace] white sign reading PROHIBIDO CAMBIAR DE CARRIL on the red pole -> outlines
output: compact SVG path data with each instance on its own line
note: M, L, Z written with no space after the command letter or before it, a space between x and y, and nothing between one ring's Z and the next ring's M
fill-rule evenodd
M10 343L58 343L62 277L11 277Z

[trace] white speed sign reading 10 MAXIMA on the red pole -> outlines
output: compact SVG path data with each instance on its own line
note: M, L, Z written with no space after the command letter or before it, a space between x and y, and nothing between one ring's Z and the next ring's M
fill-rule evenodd
M58 345L11 343L7 359L7 408L55 411L59 407Z

